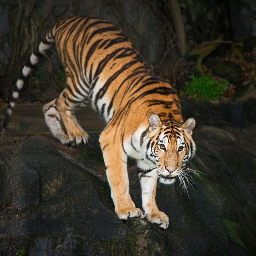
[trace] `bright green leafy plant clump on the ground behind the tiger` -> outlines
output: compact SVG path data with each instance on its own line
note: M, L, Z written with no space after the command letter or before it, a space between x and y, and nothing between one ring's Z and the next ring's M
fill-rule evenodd
M212 76L195 77L192 74L189 78L191 81L186 82L182 93L193 100L219 100L229 84L226 79L213 80Z

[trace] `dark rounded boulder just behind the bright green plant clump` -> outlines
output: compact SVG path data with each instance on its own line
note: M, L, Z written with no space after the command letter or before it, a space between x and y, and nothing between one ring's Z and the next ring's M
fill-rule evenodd
M204 63L207 68L212 70L212 73L215 76L225 78L236 86L241 84L242 71L239 65L230 61L218 60L215 58L209 58Z

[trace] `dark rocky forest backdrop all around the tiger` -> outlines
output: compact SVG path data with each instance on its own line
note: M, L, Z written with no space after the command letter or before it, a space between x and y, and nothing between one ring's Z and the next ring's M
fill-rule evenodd
M174 12L174 9L176 10ZM0 124L23 65L51 26L74 15L106 18L176 90L196 119L196 184L158 186L170 220L161 230L114 212L98 142L105 124L78 111L90 143L52 138L42 107L65 87L53 46L20 93L0 142L0 256L256 254L256 0L0 0ZM182 37L184 35L184 37ZM218 100L195 101L189 76L229 81ZM192 88L193 89L193 88ZM136 167L132 200L141 207Z

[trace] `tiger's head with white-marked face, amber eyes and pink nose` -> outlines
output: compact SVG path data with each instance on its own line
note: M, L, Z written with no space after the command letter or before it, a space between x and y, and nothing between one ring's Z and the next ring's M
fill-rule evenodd
M148 120L149 134L144 148L144 160L157 166L160 182L171 184L182 172L182 166L195 155L196 145L191 135L196 125L194 118L181 124L173 119L160 120L152 114Z

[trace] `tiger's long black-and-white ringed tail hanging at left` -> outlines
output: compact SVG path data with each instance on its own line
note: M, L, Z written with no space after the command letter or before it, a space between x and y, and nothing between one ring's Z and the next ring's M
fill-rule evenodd
M1 133L1 140L4 139L4 133L12 117L14 105L16 101L19 99L19 94L23 85L25 84L26 78L30 74L31 70L35 67L37 62L43 57L44 53L47 52L47 50L50 49L52 45L55 43L56 26L57 24L53 26L53 28L44 37L43 41L38 45L37 49L32 53L28 62L25 64L24 68L21 71L21 74L15 84L15 89L12 92L12 99L10 100L9 106L5 112L5 119L4 119L3 129Z

